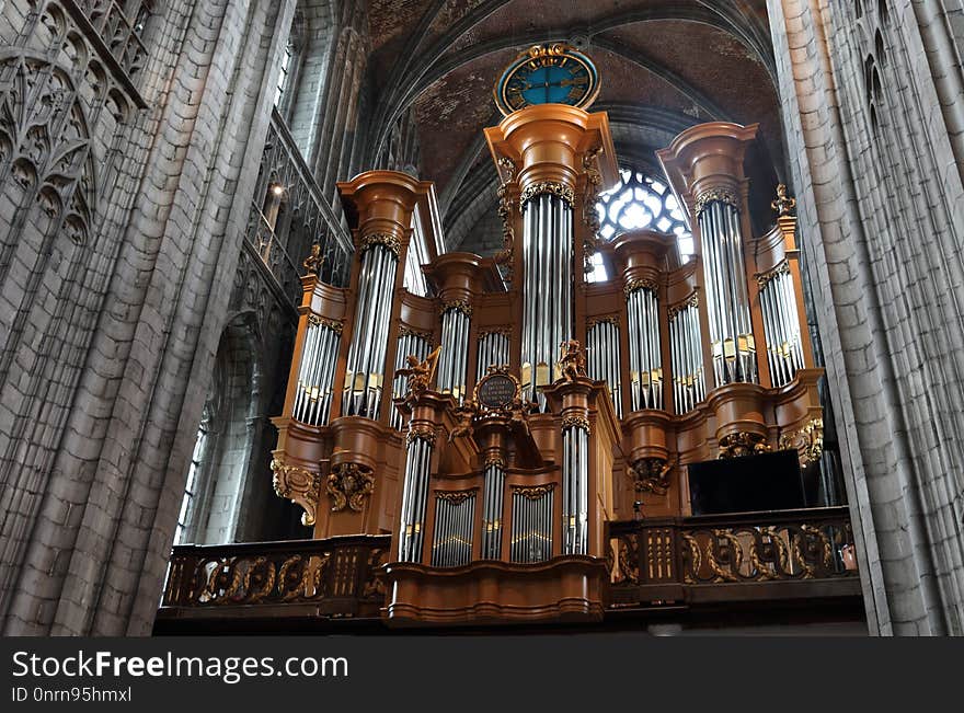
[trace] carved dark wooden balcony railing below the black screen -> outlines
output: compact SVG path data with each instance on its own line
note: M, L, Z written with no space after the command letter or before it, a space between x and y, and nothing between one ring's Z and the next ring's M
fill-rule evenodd
M857 571L848 568L853 532L846 507L645 518L610 522L608 530L615 607L860 591Z

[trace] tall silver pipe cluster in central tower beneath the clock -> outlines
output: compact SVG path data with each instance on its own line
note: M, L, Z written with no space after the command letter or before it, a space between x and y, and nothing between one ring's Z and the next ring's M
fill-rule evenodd
M554 380L560 344L572 338L572 207L543 193L523 216L523 388L544 411L535 388Z

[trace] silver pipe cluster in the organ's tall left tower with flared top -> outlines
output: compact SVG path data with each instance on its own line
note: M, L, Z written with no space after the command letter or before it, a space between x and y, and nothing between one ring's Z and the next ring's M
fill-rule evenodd
M358 306L342 396L344 415L378 417L398 265L397 248L381 242L369 243L362 257Z

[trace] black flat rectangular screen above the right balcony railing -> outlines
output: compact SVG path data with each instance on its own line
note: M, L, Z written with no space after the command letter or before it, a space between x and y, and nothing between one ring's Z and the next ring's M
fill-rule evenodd
M693 515L806 507L795 450L690 463Z

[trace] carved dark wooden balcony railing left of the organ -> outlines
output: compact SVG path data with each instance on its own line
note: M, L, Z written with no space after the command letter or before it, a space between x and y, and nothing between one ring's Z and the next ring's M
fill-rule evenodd
M378 614L391 538L351 536L174 548L161 607L311 603L321 613Z

